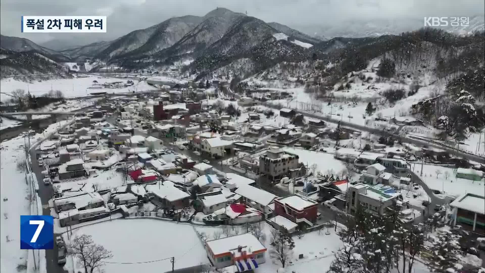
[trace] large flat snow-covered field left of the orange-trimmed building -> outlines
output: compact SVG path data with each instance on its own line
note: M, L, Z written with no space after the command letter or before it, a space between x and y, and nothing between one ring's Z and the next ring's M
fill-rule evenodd
M72 236L80 234L91 235L97 244L112 251L113 258L102 268L105 272L169 272L172 256L175 270L209 263L202 242L189 224L117 219L75 229ZM67 240L66 234L64 237ZM79 268L77 264L76 268ZM70 258L65 269L73 270Z

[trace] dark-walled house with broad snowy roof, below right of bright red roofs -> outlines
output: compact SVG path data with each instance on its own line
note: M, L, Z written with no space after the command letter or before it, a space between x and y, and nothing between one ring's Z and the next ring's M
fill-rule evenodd
M175 187L171 181L159 181L155 185L147 185L146 191L153 194L155 202L165 208L182 208L190 205L190 195Z

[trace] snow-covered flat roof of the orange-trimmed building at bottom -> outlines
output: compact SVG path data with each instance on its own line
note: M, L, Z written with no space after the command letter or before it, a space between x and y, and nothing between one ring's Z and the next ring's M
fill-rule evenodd
M251 249L251 252L266 250L264 245L251 233L207 241L206 245L214 255L229 253L231 250L237 249L238 246L246 246L243 250L248 252L249 249Z

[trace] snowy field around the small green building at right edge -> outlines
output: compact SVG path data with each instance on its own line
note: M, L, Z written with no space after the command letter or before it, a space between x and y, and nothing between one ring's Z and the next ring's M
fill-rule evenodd
M411 170L417 175L421 173L421 164L412 163ZM435 165L423 165L423 174L421 180L431 189L441 191L443 194L453 195L455 197L469 193L482 193L485 191L485 180L472 181L463 178L456 178L454 171L456 169Z

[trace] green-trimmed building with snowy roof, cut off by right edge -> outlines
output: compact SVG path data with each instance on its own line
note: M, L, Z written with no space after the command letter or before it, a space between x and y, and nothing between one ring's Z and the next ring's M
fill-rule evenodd
M485 197L482 193L466 193L456 198L453 208L453 225L459 224L467 230L485 234Z

